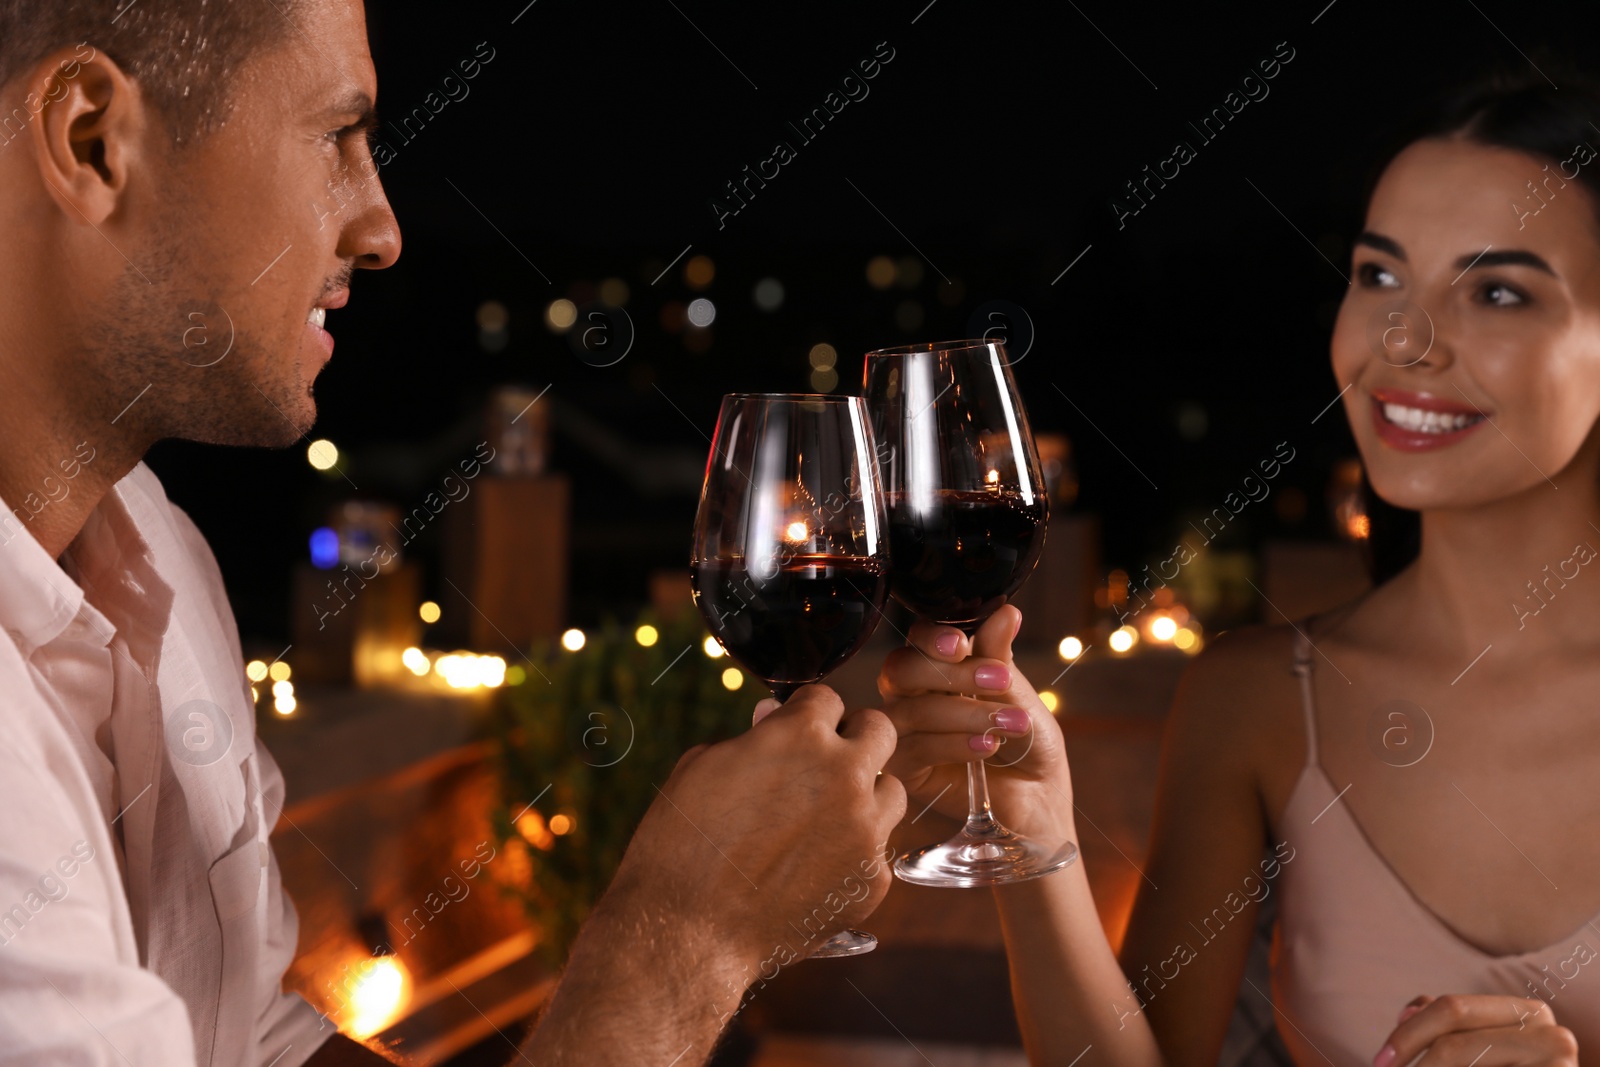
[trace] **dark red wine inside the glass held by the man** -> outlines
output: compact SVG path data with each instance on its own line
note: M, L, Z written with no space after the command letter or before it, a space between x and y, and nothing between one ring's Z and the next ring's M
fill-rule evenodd
M885 561L872 557L797 555L771 576L742 558L696 560L690 573L710 632L779 699L854 656L888 600Z

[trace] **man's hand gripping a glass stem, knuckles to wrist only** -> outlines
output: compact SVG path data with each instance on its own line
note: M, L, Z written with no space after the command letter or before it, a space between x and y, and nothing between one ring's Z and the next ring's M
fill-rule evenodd
M659 787L613 894L720 941L752 971L866 918L888 891L885 843L906 790L880 776L894 726L811 685L747 733L691 749ZM802 933L797 933L802 931ZM803 936L805 934L805 936ZM754 976L754 974L752 974Z

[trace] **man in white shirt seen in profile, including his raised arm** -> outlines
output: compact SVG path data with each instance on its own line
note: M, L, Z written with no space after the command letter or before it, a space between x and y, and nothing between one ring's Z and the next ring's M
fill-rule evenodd
M354 0L0 0L0 1064L386 1062L280 989L282 777L141 462L312 426L400 253L374 98ZM690 752L515 1062L704 1061L790 921L882 899L893 744L813 686Z

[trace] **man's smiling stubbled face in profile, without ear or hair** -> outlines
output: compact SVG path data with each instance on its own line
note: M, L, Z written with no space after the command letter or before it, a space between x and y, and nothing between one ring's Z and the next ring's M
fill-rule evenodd
M240 69L224 125L130 182L154 222L138 272L93 306L91 349L122 395L150 386L136 411L154 437L283 446L315 422L333 352L317 320L355 267L400 254L362 125L376 91L360 0L301 0Z

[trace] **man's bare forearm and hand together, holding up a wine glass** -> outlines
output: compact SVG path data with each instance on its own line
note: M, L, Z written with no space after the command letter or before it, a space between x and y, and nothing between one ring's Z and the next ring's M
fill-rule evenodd
M866 918L906 789L894 726L819 685L691 749L645 813L523 1053L547 1067L704 1062L746 989Z

